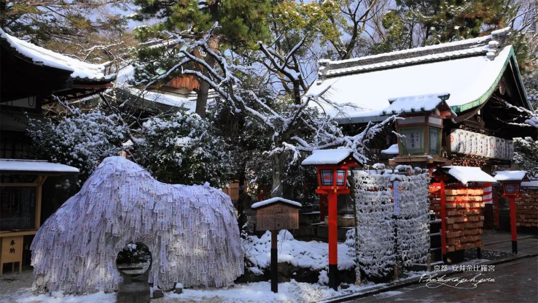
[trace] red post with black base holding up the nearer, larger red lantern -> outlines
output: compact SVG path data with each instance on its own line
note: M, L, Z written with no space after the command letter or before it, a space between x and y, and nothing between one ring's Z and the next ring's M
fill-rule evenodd
M336 189L329 192L329 287L338 289L338 221Z

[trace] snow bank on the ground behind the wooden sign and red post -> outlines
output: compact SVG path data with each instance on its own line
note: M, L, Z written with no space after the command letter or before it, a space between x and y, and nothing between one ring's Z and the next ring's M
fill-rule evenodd
M328 244L317 241L298 241L287 230L278 233L278 262L288 262L294 266L310 267L321 270L329 266ZM271 232L266 231L261 238L250 236L243 240L245 257L252 262L254 273L269 266L271 261ZM338 243L338 269L345 270L355 266L355 261L348 256L349 247Z

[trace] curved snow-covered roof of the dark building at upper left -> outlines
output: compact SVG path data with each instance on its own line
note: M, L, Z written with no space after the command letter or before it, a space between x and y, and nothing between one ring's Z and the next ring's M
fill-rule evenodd
M80 60L55 53L46 48L31 44L27 41L10 36L0 29L0 37L5 40L13 50L34 64L62 69L71 72L73 79L86 81L113 81L116 74L105 75L105 68L109 63L90 64Z

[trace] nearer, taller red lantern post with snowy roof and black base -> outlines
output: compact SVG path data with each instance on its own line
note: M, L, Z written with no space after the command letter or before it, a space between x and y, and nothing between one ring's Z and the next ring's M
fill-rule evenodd
M329 287L338 290L338 194L349 194L348 171L358 166L351 149L315 150L302 165L313 165L317 170L316 193L327 195L329 200Z

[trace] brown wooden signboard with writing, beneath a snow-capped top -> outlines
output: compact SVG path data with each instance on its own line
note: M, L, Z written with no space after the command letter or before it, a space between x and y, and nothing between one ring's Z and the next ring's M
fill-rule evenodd
M256 209L256 230L299 228L299 208L275 203Z

